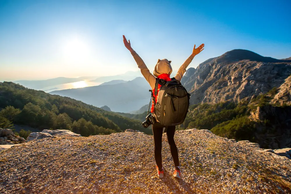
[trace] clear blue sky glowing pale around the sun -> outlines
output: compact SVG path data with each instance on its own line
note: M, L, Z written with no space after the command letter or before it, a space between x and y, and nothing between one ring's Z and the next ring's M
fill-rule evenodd
M0 81L138 71L122 35L152 72L189 67L232 49L291 56L291 1L0 0ZM188 67L188 68L189 68Z

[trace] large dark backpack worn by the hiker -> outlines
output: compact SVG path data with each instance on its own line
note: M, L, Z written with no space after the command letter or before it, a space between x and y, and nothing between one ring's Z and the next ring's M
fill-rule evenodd
M161 88L158 93L158 84ZM156 78L153 117L164 126L182 124L186 118L190 94L181 82L172 78L171 81Z

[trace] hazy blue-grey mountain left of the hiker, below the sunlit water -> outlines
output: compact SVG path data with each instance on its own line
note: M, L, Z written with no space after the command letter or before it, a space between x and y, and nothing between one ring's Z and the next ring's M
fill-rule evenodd
M50 94L70 97L97 107L108 105L111 111L127 113L150 101L148 90L148 82L143 77L137 77L125 83L58 90Z

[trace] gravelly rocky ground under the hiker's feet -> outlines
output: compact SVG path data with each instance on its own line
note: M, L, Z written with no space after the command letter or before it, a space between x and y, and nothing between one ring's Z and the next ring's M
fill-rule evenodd
M165 177L143 133L31 140L0 154L0 193L291 193L291 160L207 130L176 131L182 179L163 135Z

